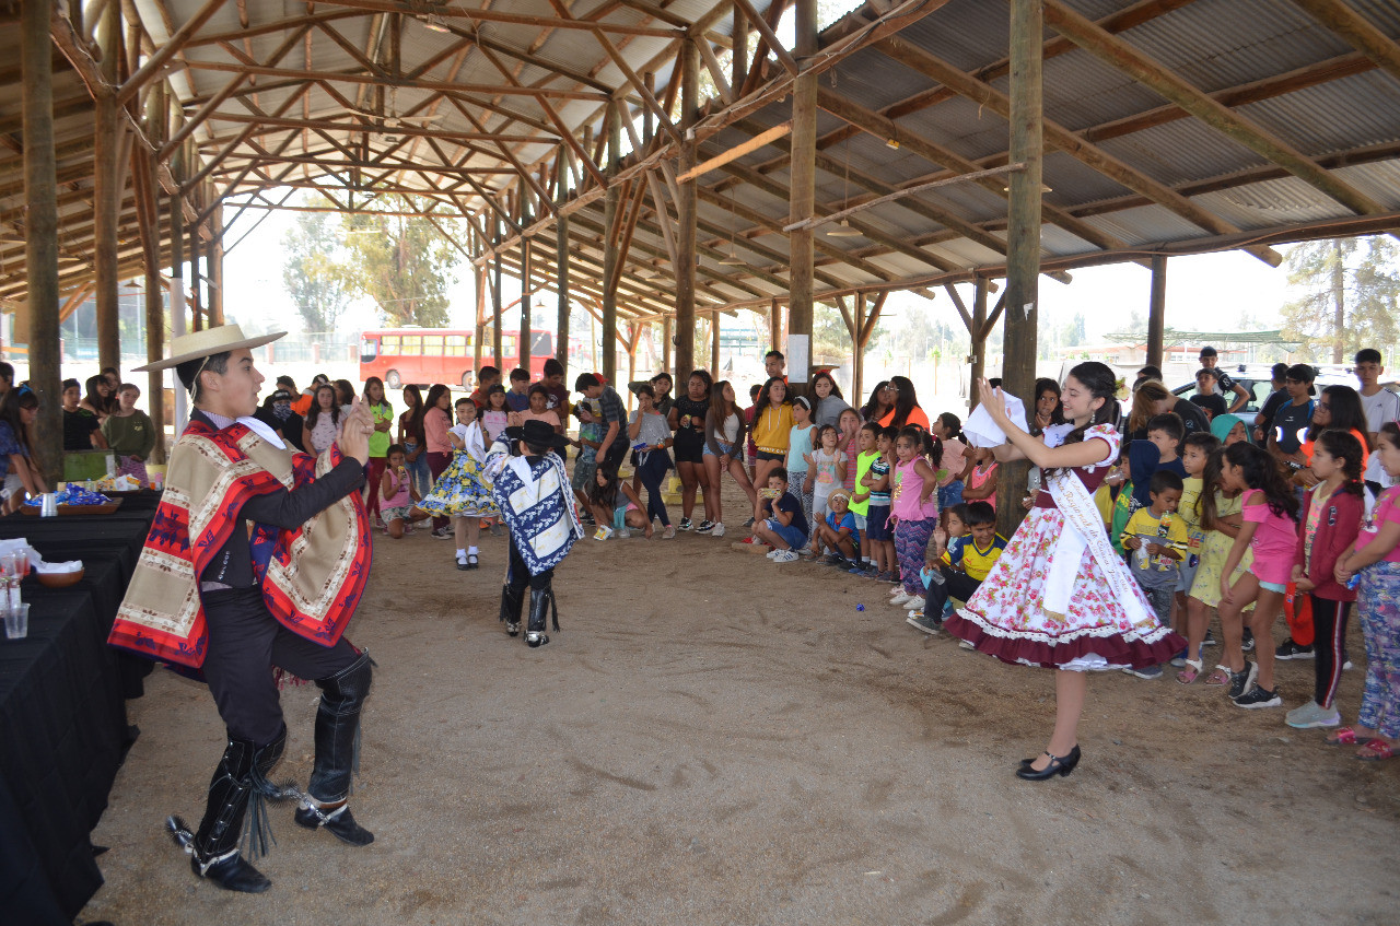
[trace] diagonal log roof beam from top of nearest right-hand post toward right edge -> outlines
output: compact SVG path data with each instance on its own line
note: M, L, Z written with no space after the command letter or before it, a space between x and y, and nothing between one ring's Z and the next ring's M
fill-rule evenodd
M1217 102L1190 83L1162 67L1123 39L1109 35L1060 0L1044 0L1046 25L1144 87L1172 101L1211 129L1280 165L1305 183L1322 190L1347 208L1373 215L1385 208L1369 196L1275 137L1254 120Z

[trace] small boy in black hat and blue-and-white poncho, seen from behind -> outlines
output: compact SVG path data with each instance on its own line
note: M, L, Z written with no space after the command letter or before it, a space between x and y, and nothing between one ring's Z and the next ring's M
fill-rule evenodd
M521 632L521 607L525 586L531 589L529 624L525 642L531 648L549 642L545 617L553 608L559 632L559 608L554 606L554 567L564 561L584 527L574 512L574 499L559 456L568 439L554 434L543 421L526 421L519 428L505 428L486 453L482 476L491 485L491 497L511 529L510 565L501 589L501 620L505 632ZM515 456L517 452L519 456Z

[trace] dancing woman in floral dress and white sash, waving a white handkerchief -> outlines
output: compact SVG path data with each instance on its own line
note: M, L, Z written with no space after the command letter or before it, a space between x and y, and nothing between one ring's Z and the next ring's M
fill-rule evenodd
M997 459L1030 460L1046 470L1046 481L977 593L944 627L1002 662L1061 670L1050 743L1016 775L1068 775L1079 761L1085 671L1159 666L1184 641L1156 622L1093 505L1119 459L1113 371L1092 361L1070 371L1061 403L1074 431L1053 449L1011 422L1000 389L987 380L980 389L1008 441L995 449Z

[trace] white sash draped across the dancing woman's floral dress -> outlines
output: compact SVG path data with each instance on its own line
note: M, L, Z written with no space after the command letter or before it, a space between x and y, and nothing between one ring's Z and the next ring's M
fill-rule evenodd
M1046 576L1044 603L1047 614L1063 617L1074 596L1074 579L1079 572L1079 560L1084 550L1099 564L1099 569L1109 580L1109 587L1127 613L1133 627L1142 627L1144 621L1156 624L1156 618L1144 607L1142 594L1137 580L1128 575L1127 565L1113 551L1109 536L1103 530L1103 518L1093 504L1093 497L1084 487L1078 476L1065 470L1056 471L1046 480L1046 491L1054 499L1056 508L1064 515L1065 525L1074 530L1060 533L1051 555L1050 575Z

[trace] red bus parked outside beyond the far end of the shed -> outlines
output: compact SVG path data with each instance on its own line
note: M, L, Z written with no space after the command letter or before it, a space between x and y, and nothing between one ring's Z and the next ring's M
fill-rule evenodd
M459 385L472 389L476 332L445 327L385 327L360 333L360 382L378 376L389 389L406 383ZM545 361L554 355L554 336L543 329L531 332L531 379L545 376ZM490 347L486 344L484 347ZM519 358L519 333L501 333L501 351ZM514 368L510 362L504 372ZM482 355L482 366L500 366L494 357Z

